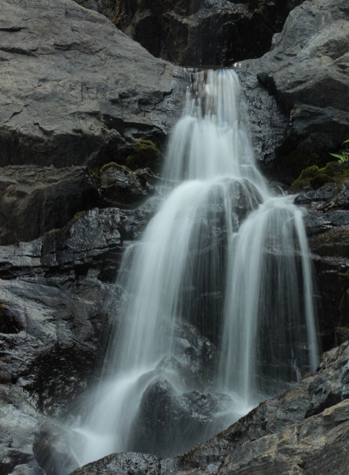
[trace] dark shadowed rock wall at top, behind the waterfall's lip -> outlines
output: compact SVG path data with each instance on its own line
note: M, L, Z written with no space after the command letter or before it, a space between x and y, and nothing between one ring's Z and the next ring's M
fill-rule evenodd
M187 66L227 66L268 51L272 34L299 3L110 0L105 14L156 57Z

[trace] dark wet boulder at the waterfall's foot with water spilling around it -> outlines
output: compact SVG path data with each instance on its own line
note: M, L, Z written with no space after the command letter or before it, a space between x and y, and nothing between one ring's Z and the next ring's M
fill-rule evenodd
M224 423L215 415L230 405L230 397L219 393L177 393L159 377L143 393L133 423L132 449L161 457L181 453L217 432Z

